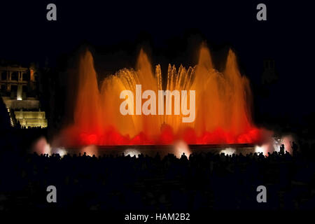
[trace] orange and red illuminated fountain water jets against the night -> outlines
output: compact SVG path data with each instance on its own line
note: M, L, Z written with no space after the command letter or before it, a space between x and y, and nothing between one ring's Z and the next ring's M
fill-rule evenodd
M78 71L74 123L62 134L66 145L173 144L178 140L187 144L252 144L260 141L261 130L251 120L248 79L239 73L232 50L228 52L224 71L219 72L214 68L208 48L202 46L195 67L176 69L169 65L164 82L160 65L153 68L142 50L135 69L121 69L102 80L100 87L89 51L81 55ZM195 90L195 121L183 123L183 115L174 113L123 116L120 92L135 92L137 84L142 85L142 92L153 90L156 95L158 90ZM174 111L174 106L172 108Z

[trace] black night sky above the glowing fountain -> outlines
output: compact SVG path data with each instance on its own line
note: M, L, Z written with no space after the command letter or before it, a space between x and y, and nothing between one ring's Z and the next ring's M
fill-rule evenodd
M153 61L165 53L176 62L187 52L190 34L197 33L214 52L232 47L252 83L260 82L263 59L274 59L279 83L261 100L260 110L295 118L315 111L309 2L1 1L0 59L43 64L48 58L54 66L83 43L124 50L123 43L136 45L146 36ZM48 3L57 5L56 22L46 20ZM267 5L267 21L256 20L258 3Z

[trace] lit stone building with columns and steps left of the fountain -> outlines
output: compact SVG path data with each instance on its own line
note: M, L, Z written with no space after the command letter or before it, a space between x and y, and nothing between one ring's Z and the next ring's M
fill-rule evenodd
M0 94L11 126L47 127L45 111L36 94L36 70L21 66L0 66Z

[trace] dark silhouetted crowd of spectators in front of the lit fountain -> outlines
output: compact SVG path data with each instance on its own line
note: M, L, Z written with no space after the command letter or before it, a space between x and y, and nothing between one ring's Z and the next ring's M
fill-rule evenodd
M282 147L282 146L281 146ZM297 147L295 145L295 147ZM0 209L314 209L314 159L297 152L0 157ZM48 186L57 203L48 203ZM257 187L267 202L257 202Z

